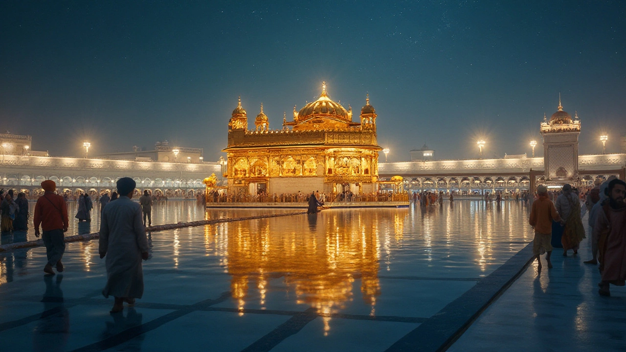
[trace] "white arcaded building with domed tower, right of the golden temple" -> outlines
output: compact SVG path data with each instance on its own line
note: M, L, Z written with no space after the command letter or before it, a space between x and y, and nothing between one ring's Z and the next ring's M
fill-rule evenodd
M543 116L539 128L543 157L380 163L379 176L384 179L401 175L405 189L454 190L462 194L521 192L534 190L537 184L554 189L566 183L588 187L611 175L626 179L626 150L578 155L580 118L563 111L560 101L550 120Z

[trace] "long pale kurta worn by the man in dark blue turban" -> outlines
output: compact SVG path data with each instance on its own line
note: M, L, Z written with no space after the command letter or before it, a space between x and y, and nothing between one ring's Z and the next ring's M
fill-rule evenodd
M100 253L106 253L106 286L102 294L123 298L143 296L141 252L148 252L148 238L141 207L128 197L106 205L100 222Z

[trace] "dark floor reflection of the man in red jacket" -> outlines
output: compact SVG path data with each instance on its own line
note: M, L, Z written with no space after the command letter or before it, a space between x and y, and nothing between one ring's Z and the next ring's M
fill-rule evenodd
M69 338L69 311L63 306L62 280L63 275L57 276L54 282L52 276L43 277L43 281L46 282L46 292L41 299L44 313L41 314L37 328L34 329L34 351L65 350Z

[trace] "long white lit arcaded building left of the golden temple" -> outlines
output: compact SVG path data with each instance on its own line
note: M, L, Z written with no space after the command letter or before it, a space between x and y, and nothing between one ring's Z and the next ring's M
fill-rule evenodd
M5 136L6 137L6 136ZM43 180L53 180L59 192L72 195L88 193L103 194L116 189L115 183L121 177L131 177L137 184L136 194L148 190L151 194L167 197L193 198L204 192L202 180L212 173L222 175L223 165L217 162L162 162L150 157L126 156L129 160L111 158L48 157L31 153L23 145L12 145L8 141L28 141L30 136L10 135L5 138L5 147L0 155L0 188L24 192L28 197L37 197L43 190ZM160 153L172 153L160 148ZM194 148L195 155L200 155ZM13 151L13 153L11 153ZM178 154L178 157L181 155ZM161 156L163 157L163 155ZM172 155L172 158L174 155Z

